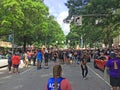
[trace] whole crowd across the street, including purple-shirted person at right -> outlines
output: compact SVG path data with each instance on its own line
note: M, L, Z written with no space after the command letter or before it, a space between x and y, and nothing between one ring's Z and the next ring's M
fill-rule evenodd
M82 76L84 79L86 79L88 74L87 63L95 58L102 57L103 55L107 55L110 57L110 60L107 62L106 67L108 68L108 73L110 74L110 84L113 87L113 90L117 90L116 87L120 87L120 50L119 49L53 50L47 48L39 48L36 50L27 50L26 52L23 53L22 56L20 56L19 53L14 53L14 55L9 53L8 69L9 71L12 71L12 73L15 72L19 73L19 64L21 59L24 62L25 68L33 65L36 66L37 70L40 70L43 66L45 69L49 69L49 62L51 61L54 63L54 65L58 63L66 64L66 65L76 64L81 66ZM115 61L115 63L113 63L113 61ZM46 89L46 90L51 90L51 89Z

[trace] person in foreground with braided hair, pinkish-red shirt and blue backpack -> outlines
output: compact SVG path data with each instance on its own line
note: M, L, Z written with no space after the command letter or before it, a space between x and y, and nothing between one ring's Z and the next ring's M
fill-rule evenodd
M62 77L61 65L53 67L53 77L48 79L45 90L72 90L69 80Z

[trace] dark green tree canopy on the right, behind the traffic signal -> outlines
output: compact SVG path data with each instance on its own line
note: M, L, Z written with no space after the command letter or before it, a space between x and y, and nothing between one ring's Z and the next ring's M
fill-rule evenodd
M81 36L84 45L105 44L112 46L113 38L120 34L120 1L119 0L68 0L65 4L69 9L69 16L66 21L82 16L82 25L75 25L71 22L71 30L67 37L76 33L80 42Z

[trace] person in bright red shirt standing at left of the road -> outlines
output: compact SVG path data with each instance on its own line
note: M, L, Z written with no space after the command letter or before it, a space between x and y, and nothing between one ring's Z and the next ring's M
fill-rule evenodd
M19 64L20 64L20 56L18 55L18 53L15 53L12 56L12 66L13 66L12 73L19 73Z

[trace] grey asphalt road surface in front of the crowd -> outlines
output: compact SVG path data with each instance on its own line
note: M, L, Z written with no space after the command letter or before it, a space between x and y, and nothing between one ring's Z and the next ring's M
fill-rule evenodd
M52 66L49 69L37 70L36 66L20 69L19 74L9 74L0 70L0 90L45 90L49 77L52 77ZM93 63L88 63L88 79L81 76L80 65L62 65L63 77L70 80L73 90L111 90L109 83L103 79L103 72L94 69ZM2 72L2 73L1 73Z

